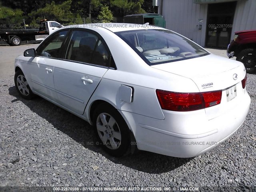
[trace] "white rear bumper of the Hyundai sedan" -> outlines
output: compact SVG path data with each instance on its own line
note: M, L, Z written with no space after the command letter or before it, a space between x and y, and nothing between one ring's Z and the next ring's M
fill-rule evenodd
M238 130L250 107L246 92L243 101L230 112L204 120L204 110L178 114L164 111L165 120L156 120L123 112L132 127L139 150L167 156L188 158L218 146Z

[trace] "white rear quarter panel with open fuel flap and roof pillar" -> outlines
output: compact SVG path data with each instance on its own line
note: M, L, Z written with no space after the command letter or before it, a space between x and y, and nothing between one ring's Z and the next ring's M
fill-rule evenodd
M156 89L174 92L198 92L198 87L189 78L152 68L113 32L96 28L106 41L117 69L104 74L96 91L90 98L85 115L90 119L90 106L95 100L105 100L120 111L132 112L150 118L164 120L164 114L156 96ZM134 88L133 102L124 102L119 97L120 85Z

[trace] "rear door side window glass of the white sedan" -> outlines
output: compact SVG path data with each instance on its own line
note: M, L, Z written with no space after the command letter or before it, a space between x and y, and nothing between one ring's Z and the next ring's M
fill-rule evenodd
M74 30L66 59L101 66L108 66L109 53L103 42L93 33Z

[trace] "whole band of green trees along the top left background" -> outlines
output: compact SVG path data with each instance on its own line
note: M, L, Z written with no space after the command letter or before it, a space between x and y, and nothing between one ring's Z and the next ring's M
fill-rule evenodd
M113 16L121 18L144 13L145 10L157 12L157 8L152 6L152 0L58 0L58 3L52 0L0 0L0 22L22 25L23 19L38 22L45 17L47 20L64 23L72 19L72 22L77 23L75 18L87 18L89 15L90 19L110 22ZM98 19L91 22L97 22Z

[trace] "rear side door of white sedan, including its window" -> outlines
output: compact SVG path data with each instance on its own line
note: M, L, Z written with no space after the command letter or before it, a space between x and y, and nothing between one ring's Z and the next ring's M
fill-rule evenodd
M58 103L83 114L109 66L110 52L100 36L90 30L73 30L64 60L54 67Z

